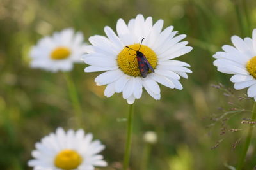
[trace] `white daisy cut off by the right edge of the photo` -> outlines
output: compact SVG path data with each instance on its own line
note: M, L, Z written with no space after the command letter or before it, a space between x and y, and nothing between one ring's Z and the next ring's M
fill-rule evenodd
M224 52L216 52L214 66L218 71L227 74L234 74L230 81L237 90L248 88L249 97L256 101L256 29L253 30L252 38L241 39L239 36L232 36L234 46L224 45Z

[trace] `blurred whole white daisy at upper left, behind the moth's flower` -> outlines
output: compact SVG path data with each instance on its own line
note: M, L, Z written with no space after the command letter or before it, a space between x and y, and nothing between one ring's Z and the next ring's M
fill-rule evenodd
M86 46L83 39L83 34L75 33L74 29L64 29L40 39L30 52L31 67L52 72L72 70L74 62L81 62Z

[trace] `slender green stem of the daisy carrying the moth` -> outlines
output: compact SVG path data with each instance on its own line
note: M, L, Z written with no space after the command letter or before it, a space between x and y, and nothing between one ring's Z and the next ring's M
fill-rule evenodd
M129 108L129 115L128 115L128 121L127 121L127 137L126 137L126 143L125 143L125 155L124 155L124 163L123 163L124 170L127 170L129 166L129 159L130 159L130 153L131 153L131 141L132 141L133 115L134 115L133 104L131 104Z

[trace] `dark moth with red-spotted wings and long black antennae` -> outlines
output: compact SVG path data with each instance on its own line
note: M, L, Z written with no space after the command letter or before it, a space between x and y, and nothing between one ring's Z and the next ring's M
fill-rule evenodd
M145 38L142 38L141 39L141 43L140 43L140 47L141 47L141 44L142 44L142 41L143 39ZM126 48L129 48L131 50L134 50L132 48L130 48L129 46L125 46ZM138 66L139 66L139 69L140 69L140 74L141 76L143 76L143 78L145 78L148 74L148 71L149 69L155 73L153 67L151 66L151 64L148 62L147 58L145 57L145 55L140 52L140 48L138 50L134 50L136 51L136 58L137 58L137 61L138 61Z

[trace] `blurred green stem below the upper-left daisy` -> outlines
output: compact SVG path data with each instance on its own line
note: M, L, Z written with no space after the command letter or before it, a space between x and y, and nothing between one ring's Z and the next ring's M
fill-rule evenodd
M65 80L67 82L67 87L68 87L68 93L74 108L75 116L76 116L76 123L77 127L81 127L81 120L82 120L82 110L81 110L81 105L79 103L79 98L77 96L77 90L76 86L74 85L74 81L72 80L71 76L69 73L63 73Z

